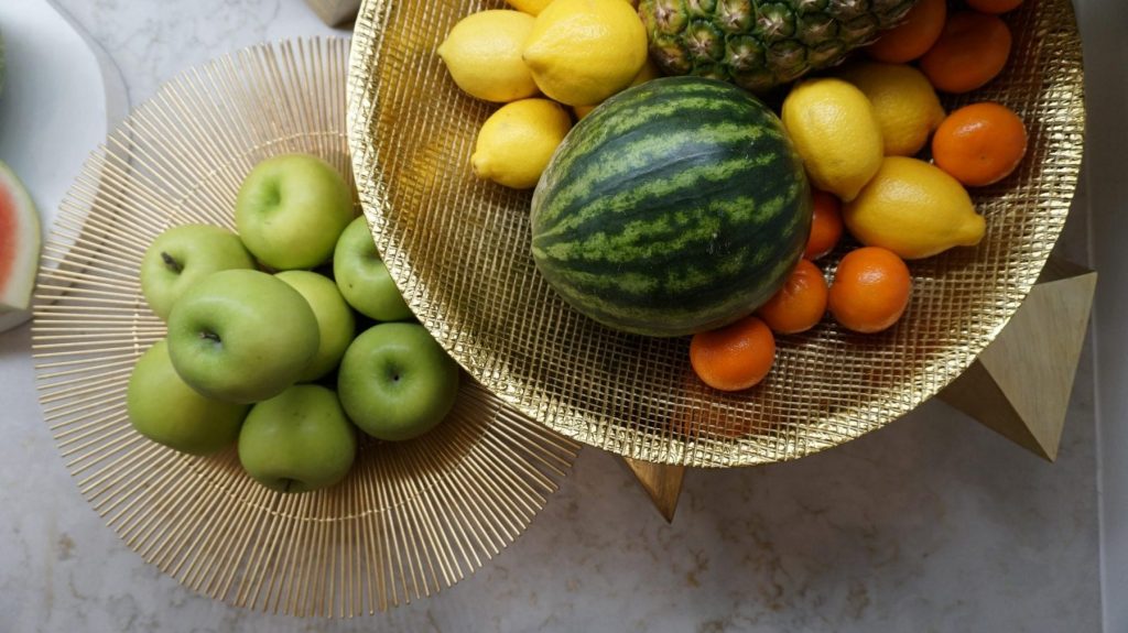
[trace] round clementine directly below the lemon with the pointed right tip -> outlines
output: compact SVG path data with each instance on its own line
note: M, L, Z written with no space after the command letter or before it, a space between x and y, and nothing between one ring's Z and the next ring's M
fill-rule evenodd
M911 289L909 268L900 257L880 247L863 247L838 262L827 306L847 329L880 332L905 313Z

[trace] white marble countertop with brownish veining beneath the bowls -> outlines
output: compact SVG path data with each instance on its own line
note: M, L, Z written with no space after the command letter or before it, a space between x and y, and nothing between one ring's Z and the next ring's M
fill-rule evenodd
M30 1L30 0L5 0ZM342 34L301 0L59 0L138 105L264 39ZM91 148L92 149L92 148ZM1086 257L1085 193L1063 240ZM27 355L25 326L0 358ZM1048 464L938 402L840 448L691 471L667 525L585 449L528 532L429 599L351 621L227 606L144 563L79 496L34 400L0 384L0 631L1101 631L1091 354Z

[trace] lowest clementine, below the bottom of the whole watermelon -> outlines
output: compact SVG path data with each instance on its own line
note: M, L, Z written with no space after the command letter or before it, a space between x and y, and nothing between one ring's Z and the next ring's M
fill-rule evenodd
M756 385L772 371L775 337L756 316L707 332L689 341L689 364L697 377L713 389L741 391Z

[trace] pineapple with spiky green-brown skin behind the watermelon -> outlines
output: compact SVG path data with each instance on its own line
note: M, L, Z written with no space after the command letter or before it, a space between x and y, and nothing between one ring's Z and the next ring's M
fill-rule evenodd
M697 74L765 92L896 26L917 0L641 0L651 56L667 74Z

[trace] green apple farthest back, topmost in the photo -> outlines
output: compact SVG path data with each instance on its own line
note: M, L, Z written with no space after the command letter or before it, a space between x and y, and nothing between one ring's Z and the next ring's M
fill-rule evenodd
M352 190L341 172L310 154L259 162L235 200L239 237L259 261L276 270L328 261L354 215Z

